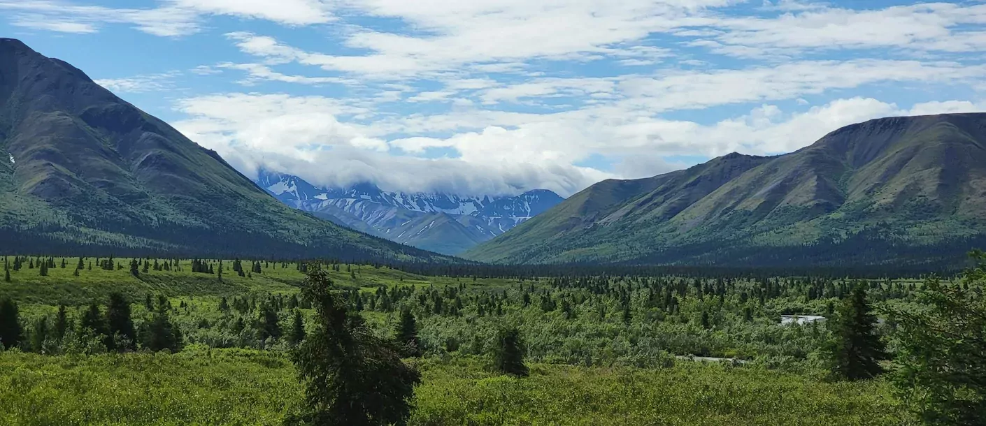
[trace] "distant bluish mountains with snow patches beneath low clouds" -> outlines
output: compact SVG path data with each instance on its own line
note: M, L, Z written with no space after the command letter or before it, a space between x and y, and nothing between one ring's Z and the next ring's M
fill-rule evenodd
M255 180L288 206L335 223L438 253L455 255L562 202L547 190L516 197L386 192L363 183L318 188L298 176L260 170Z

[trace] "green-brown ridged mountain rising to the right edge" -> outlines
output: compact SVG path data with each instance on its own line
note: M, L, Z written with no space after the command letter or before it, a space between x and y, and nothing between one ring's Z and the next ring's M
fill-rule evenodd
M500 263L940 263L986 247L986 114L892 117L777 156L607 180L470 249Z

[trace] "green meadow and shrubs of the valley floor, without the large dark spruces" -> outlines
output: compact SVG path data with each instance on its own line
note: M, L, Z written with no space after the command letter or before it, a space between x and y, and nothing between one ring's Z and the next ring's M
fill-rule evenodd
M261 262L254 274L245 261L241 276L223 261L220 279L191 272L187 260L172 271L161 267L165 260L140 260L136 275L129 259L105 270L87 258L78 274L79 258L64 262L54 259L46 275L25 264L0 282L0 299L19 305L26 341L0 352L0 424L274 425L303 402L287 338L260 335L265 306L285 331L295 310L311 319L298 297L305 275L297 264ZM218 261L209 264L218 271ZM521 280L368 265L338 265L329 274L376 333L392 335L401 309L417 318L424 356L407 362L423 381L411 425L912 422L884 379L825 379L817 359L823 325L778 325L783 314L828 314L848 285L841 280ZM881 303L905 304L917 283L870 285ZM105 304L111 292L130 301L138 330L152 321L145 301L164 296L181 349L151 352L138 343L115 353L51 335L59 305L72 330L87 305ZM39 322L48 330L41 340L32 338ZM489 367L490 336L503 325L524 335L528 378Z

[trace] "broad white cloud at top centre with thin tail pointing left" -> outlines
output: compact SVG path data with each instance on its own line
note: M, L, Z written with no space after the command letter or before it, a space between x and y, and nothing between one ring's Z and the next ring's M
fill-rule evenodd
M344 2L351 10L376 17L398 18L428 32L413 36L356 29L344 39L347 47L366 49L359 56L304 51L269 36L230 34L245 52L270 61L298 61L326 70L380 79L401 79L422 73L471 66L479 72L512 72L531 58L588 60L607 55L656 63L669 50L654 46L617 46L654 32L709 24L706 7L727 0L429 0Z

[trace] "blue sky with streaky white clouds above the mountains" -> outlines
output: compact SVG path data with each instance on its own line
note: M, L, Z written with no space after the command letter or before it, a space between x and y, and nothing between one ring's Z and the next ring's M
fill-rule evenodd
M984 0L0 0L0 36L326 186L570 196L986 110Z

